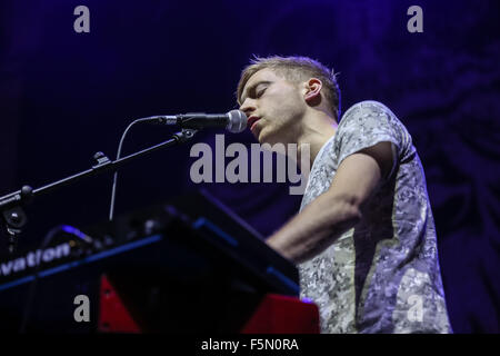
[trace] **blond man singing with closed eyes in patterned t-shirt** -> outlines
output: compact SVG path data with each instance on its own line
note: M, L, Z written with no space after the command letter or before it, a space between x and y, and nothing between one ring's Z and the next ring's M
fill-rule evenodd
M451 333L426 177L394 113L362 101L340 120L334 73L303 57L252 60L238 102L260 144L309 145L300 212L267 243L297 264L321 332Z

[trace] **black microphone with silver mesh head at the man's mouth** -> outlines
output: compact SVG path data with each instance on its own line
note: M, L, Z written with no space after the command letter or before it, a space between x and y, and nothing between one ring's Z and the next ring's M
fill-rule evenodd
M178 125L183 129L203 129L208 127L223 127L229 132L238 134L247 128L247 115L241 110L227 113L190 112L171 116L153 116L148 119L163 125Z

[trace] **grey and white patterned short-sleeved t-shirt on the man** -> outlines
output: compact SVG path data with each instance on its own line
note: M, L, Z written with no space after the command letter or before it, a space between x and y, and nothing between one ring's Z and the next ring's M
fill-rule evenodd
M298 266L301 297L318 305L322 333L451 333L422 165L384 105L362 101L343 115L314 159L300 209L330 187L343 159L382 141L396 148L391 175L356 227Z

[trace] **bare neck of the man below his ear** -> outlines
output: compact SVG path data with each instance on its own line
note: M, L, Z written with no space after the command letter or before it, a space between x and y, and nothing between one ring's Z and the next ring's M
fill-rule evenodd
M310 166L314 162L321 147L336 134L338 123L323 111L314 111L302 120L301 134L297 139L298 165L300 165L303 146L309 145Z

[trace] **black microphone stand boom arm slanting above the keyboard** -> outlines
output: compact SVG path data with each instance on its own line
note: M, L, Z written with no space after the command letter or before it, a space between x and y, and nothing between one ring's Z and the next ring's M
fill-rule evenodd
M137 151L114 161L110 160L104 154L97 152L93 155L94 165L90 169L36 189L30 186L22 186L20 190L0 197L0 225L3 226L9 239L9 254L14 253L18 238L22 234L22 229L26 227L28 221L23 207L31 202L36 197L47 195L62 186L69 186L88 177L97 176L107 171L116 171L131 160L149 155L164 147L183 144L190 140L196 132L197 130L193 129L182 129L182 131L173 134L172 138L167 141Z

